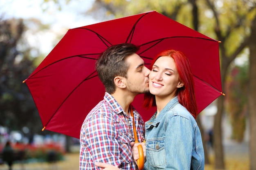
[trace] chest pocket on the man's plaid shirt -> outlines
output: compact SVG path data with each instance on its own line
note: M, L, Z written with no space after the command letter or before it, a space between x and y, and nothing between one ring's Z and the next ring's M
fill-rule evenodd
M130 142L132 142L132 135L130 133L121 134L118 138L120 144L121 159L125 163L132 161L132 148Z

